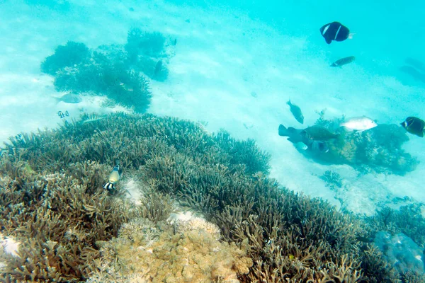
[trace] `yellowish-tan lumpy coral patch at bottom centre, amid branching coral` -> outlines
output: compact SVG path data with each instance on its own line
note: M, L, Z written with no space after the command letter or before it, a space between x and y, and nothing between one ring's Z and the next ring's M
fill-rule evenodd
M147 219L125 224L118 238L100 243L101 267L88 282L115 282L111 270L122 282L239 282L237 275L248 273L252 265L247 247L218 241L219 229L208 231L212 224L191 223L197 225L176 221L177 230Z

